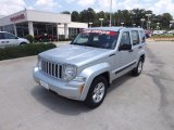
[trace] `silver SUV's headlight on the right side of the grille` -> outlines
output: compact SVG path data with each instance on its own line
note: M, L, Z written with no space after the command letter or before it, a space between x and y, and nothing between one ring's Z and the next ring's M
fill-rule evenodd
M64 65L64 76L63 79L65 81L73 80L77 75L77 68L74 65Z

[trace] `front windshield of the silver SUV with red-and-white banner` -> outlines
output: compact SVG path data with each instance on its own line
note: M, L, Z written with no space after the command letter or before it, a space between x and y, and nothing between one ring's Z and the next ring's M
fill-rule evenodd
M119 32L109 30L83 30L71 44L114 49Z

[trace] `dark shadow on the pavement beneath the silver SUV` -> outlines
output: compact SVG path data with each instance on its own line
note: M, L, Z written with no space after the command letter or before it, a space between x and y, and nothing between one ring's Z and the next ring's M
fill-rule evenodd
M111 91L117 89L122 86L122 83L126 82L132 76L127 74L114 80L111 87L108 89L108 95ZM41 86L34 87L30 93L40 104L48 107L50 110L62 115L74 116L92 110L85 106L85 104L82 102L60 96L54 92L44 89Z

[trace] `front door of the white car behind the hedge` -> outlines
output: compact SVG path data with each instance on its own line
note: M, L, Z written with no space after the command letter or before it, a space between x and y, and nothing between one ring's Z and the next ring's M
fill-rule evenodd
M4 35L5 47L18 46L18 40L14 35L9 32L3 32L3 35Z

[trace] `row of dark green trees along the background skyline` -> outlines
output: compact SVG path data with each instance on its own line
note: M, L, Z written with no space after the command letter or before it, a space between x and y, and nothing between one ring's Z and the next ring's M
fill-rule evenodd
M62 12L63 14L71 14L69 11ZM157 23L160 23L159 26L161 29L170 28L170 21L172 21L172 15L170 13L163 13L162 15L156 15L150 10L145 9L133 9L133 10L117 10L111 14L112 16L112 26L121 26L121 23L124 23L125 26L141 26L141 18L145 18L144 27L148 25L148 16L146 14L151 14L149 17L150 28L156 29ZM83 22L88 23L91 22L92 26L100 26L99 18L103 18L103 26L109 26L110 23L110 12L100 11L98 13L95 12L94 9L88 8L87 10L83 10L80 12L73 11L72 12L72 21L73 22ZM173 27L173 26L172 26Z

